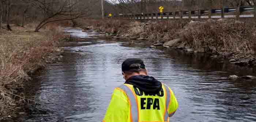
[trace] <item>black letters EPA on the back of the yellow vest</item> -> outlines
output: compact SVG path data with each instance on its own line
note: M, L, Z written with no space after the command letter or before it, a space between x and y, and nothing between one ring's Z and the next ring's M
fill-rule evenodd
M146 105L147 103L147 105ZM145 106L146 105L146 106ZM140 109L151 109L153 105L153 109L160 110L159 99L158 98L140 98Z

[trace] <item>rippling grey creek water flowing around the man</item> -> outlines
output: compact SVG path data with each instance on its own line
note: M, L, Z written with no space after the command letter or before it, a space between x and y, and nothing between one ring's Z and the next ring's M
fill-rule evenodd
M147 48L135 41L97 38L95 32L66 28L63 58L34 76L36 100L27 122L100 122L115 87L124 83L121 63L141 58L149 75L172 88L179 103L170 122L255 122L256 81L228 75L255 75L255 70L218 63L209 56ZM80 50L82 52L76 52Z

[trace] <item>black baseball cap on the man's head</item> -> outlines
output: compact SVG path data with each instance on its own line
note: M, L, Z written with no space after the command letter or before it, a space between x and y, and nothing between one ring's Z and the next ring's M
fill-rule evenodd
M131 64L141 64L140 67L130 67ZM145 68L145 64L143 62L143 60L139 59L139 58L129 58L126 59L123 63L122 63L122 71L128 71L131 69L139 69L139 68Z

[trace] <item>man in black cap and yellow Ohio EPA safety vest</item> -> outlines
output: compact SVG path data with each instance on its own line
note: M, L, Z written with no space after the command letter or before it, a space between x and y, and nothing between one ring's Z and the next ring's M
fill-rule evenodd
M173 91L147 75L141 59L122 64L125 83L114 89L103 122L169 122L178 108Z

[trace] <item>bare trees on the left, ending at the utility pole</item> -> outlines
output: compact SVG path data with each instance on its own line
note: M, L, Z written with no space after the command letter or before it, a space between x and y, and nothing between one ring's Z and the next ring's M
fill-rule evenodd
M47 23L100 15L99 7L100 0L0 0L0 29L36 21L38 32Z

